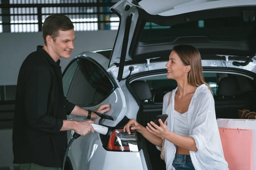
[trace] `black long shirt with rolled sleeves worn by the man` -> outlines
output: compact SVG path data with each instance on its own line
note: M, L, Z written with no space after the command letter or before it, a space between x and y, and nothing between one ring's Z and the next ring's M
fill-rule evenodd
M21 65L13 126L14 163L62 166L67 133L60 128L75 105L64 97L59 62L38 46Z

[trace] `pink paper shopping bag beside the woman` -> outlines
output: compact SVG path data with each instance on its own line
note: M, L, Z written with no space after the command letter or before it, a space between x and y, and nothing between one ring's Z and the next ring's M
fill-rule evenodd
M218 128L229 170L253 170L252 130Z

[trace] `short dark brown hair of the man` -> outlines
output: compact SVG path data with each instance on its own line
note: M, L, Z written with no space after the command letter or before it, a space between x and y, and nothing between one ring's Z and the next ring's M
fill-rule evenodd
M69 17L64 16L62 14L53 14L49 17L47 17L44 20L43 26L42 26L42 34L43 34L43 40L44 44L46 44L46 36L51 35L53 40L55 41L56 37L59 34L59 30L61 31L67 31L74 29L74 25Z

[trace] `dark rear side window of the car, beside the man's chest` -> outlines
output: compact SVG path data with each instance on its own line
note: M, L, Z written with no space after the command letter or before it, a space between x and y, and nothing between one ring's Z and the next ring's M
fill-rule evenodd
M82 107L97 105L114 89L107 72L88 58L74 60L63 76L64 95Z

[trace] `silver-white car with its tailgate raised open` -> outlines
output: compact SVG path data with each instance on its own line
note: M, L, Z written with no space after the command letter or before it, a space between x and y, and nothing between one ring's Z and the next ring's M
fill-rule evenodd
M176 87L165 64L177 44L200 51L219 127L246 125L256 143L256 121L238 113L256 110L256 0L120 0L111 10L120 19L113 49L82 52L63 74L71 102L87 109L111 104L109 117L95 120L109 131L74 140L66 170L165 170L155 146L122 128L131 118L145 125L162 114L163 95ZM256 146L252 152L256 170Z

